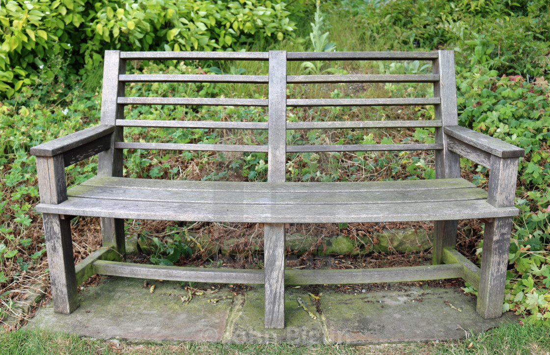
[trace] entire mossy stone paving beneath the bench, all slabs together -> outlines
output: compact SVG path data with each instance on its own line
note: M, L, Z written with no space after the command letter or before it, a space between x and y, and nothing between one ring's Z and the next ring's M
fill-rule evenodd
M70 315L38 310L25 329L48 329L100 339L143 341L346 342L392 343L458 339L515 321L510 312L484 320L475 312L475 298L460 290L398 286L354 294L323 289L321 314L308 292L287 287L285 329L263 328L263 286L233 296L228 287L213 295L194 296L185 304L179 282L109 277L79 295L80 307ZM301 298L313 319L298 303ZM460 311L459 311L460 310Z

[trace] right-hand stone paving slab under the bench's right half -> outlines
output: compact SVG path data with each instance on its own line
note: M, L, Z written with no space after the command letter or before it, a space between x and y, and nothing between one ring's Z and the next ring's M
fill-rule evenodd
M325 293L321 308L329 338L351 344L450 340L518 318L508 312L502 318L485 320L476 313L476 298L460 290L395 288L401 290Z

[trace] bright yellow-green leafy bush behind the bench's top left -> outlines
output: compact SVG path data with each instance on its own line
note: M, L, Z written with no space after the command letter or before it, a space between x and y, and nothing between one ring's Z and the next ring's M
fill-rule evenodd
M0 7L0 95L25 86L30 95L53 57L67 58L69 79L93 79L105 49L238 51L282 41L296 29L285 8L278 0L12 0Z

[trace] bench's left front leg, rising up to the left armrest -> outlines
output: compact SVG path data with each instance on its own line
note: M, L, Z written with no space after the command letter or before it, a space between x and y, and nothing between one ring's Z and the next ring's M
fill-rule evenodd
M36 157L36 169L40 202L58 204L65 201L67 182L63 154ZM78 308L70 220L51 213L43 213L42 220L52 283L53 309L57 313L69 314Z

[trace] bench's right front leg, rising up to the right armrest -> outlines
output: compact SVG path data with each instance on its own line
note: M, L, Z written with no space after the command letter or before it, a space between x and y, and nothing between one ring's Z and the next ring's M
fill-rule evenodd
M487 202L494 207L514 206L518 164L518 158L491 157ZM512 221L512 217L502 217L485 223L476 307L485 319L502 315Z

